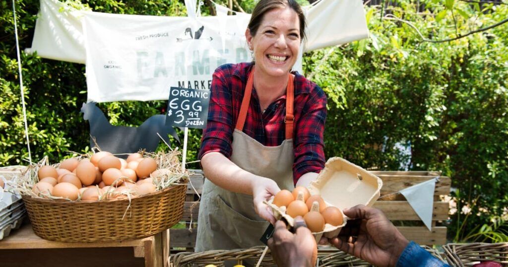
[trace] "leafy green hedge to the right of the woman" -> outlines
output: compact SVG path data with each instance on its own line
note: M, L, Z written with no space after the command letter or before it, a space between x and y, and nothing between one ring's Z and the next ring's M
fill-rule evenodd
M483 5L479 13L463 2L420 3L427 9L417 14L411 2L399 1L383 20L381 8L370 7L370 40L304 57L305 71L329 99L326 154L394 170L407 160L395 144L410 145L409 169L442 170L459 207L468 208L451 217L451 238L506 241L508 226L499 218L508 214L508 24L431 43L390 18L442 40L506 18L508 5Z

